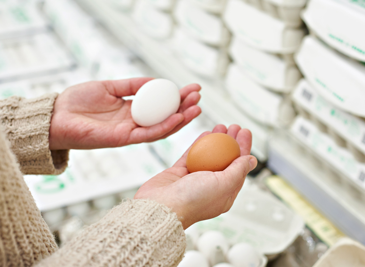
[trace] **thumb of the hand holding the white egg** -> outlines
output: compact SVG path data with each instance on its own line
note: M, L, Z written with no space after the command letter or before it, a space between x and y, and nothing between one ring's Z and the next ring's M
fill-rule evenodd
M101 83L111 95L123 97L134 95L142 85L153 79L154 78L151 77L139 77L124 80L101 81Z

